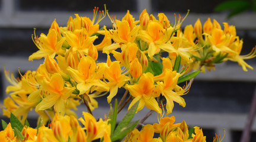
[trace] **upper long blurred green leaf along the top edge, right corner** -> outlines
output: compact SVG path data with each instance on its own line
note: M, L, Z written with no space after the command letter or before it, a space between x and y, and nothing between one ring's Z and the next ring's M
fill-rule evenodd
M250 3L248 1L225 1L215 7L215 11L225 11L229 9L237 9L241 7L247 7Z

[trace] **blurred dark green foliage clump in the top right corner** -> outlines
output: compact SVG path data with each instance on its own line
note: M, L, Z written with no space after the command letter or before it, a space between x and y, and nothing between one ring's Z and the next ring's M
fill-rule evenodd
M217 5L214 10L216 12L229 11L228 18L231 18L248 10L256 12L256 0L225 1Z

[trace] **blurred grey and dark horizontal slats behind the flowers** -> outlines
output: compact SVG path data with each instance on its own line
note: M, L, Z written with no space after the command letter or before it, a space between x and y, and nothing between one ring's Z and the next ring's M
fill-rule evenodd
M216 19L220 24L228 22L236 26L237 34L244 39L244 46L241 54L248 54L256 45L256 13L253 10L245 9L243 12L228 18L232 11L214 11L219 5L220 0L0 0L0 104L8 95L5 88L9 85L5 79L3 68L14 72L19 76L18 67L21 73L26 70L36 70L43 60L34 60L28 62L28 56L38 49L34 45L31 34L37 28L36 33L47 34L52 22L56 19L60 27L66 26L70 16L74 14L92 18L94 7L104 10L104 4L110 15L116 15L122 18L127 9L130 14L139 19L140 12L147 9L149 14L157 17L158 12L164 12L171 22L174 22L174 13L185 16L187 10L190 14L183 22L183 27L188 24L194 25L197 18L200 18L203 24L208 17ZM236 5L234 5L236 7ZM100 22L100 25L106 25L111 28L111 22L108 17ZM104 54L99 60L105 62ZM254 69L256 69L256 60L246 60ZM197 125L203 128L207 141L212 141L215 133L223 135L223 128L226 130L225 141L239 141L242 130L247 121L251 99L256 86L256 72L249 70L244 72L237 63L226 62L216 66L216 70L207 73L200 73L193 82L190 92L184 96L187 106L183 108L175 104L172 115L176 117L175 122L185 120L190 127ZM120 90L119 93L124 93ZM118 96L117 96L118 97ZM98 98L100 108L94 111L95 118L104 118L108 112L108 104L105 98ZM86 111L84 106L80 106L77 114L81 116L81 111ZM148 109L143 109L135 115L135 119L142 118ZM122 115L122 114L120 114ZM121 119L122 117L120 117ZM0 119L8 122L8 118L2 116ZM28 121L36 121L36 112L31 112ZM153 114L146 123L157 122L156 114ZM256 125L252 125L251 141L256 141Z

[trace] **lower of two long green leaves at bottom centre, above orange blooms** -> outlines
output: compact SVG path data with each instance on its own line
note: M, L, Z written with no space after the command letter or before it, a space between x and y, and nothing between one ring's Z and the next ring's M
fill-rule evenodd
M139 122L139 120L126 125L126 127L121 129L119 132L117 132L115 135L113 135L113 137L111 137L111 141L123 139L127 135L127 133L129 133L131 130L133 130L136 127L138 122Z

